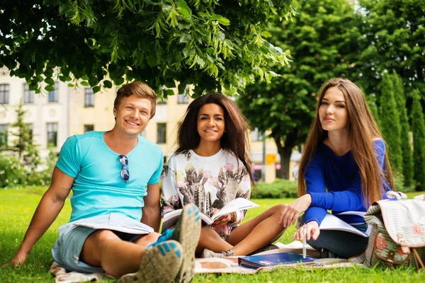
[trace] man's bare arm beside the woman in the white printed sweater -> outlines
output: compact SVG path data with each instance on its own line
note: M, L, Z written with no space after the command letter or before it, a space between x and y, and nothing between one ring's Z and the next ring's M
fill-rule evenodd
M142 208L142 223L159 231L161 223L161 207L159 206L159 185L147 185L147 195L144 197L145 207Z

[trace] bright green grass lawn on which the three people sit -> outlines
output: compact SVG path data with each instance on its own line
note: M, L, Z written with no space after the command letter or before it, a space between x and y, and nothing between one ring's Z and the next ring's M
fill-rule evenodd
M13 257L33 216L45 187L0 190L0 266ZM409 198L419 193L409 193ZM261 207L250 209L251 219L274 204L290 203L292 199L254 200ZM71 214L69 200L50 229L38 241L21 267L0 267L0 282L54 282L49 273L52 264L50 249L59 234L58 228L67 223ZM295 228L292 226L278 240L290 243ZM424 282L425 272L412 269L346 268L334 270L283 269L257 275L196 275L193 282ZM116 282L107 279L104 282Z

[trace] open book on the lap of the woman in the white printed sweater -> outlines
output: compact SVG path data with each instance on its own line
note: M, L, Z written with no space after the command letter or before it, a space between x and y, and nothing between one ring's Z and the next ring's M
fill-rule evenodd
M200 213L200 218L203 221L203 224L211 225L212 222L217 220L220 216L225 214L229 214L231 212L237 212L239 210L250 209L253 207L259 207L258 204L251 202L250 200L246 200L243 197L238 197L237 199L228 202L219 212L214 214L213 216L208 216L207 214ZM167 212L164 214L164 219L162 219L162 231L171 228L177 223L177 219L181 214L183 209L176 209L172 212Z

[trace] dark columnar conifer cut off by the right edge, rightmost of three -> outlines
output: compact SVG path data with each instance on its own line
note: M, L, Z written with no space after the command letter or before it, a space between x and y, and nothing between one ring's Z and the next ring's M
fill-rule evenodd
M413 93L412 132L415 189L425 190L425 124L419 91Z

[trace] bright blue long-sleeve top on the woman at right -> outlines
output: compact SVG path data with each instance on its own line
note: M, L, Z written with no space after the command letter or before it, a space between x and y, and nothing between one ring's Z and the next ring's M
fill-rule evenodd
M385 144L382 139L373 141L376 158L385 170ZM351 151L343 156L336 156L325 144L317 146L316 153L305 173L307 193L312 196L312 203L305 212L305 223L317 221L320 225L327 210L332 214L340 212L366 212L362 200L361 177L358 165ZM385 192L391 190L383 180ZM385 197L385 193L383 194ZM338 215L336 215L338 216ZM363 223L361 216L338 216L348 224Z

